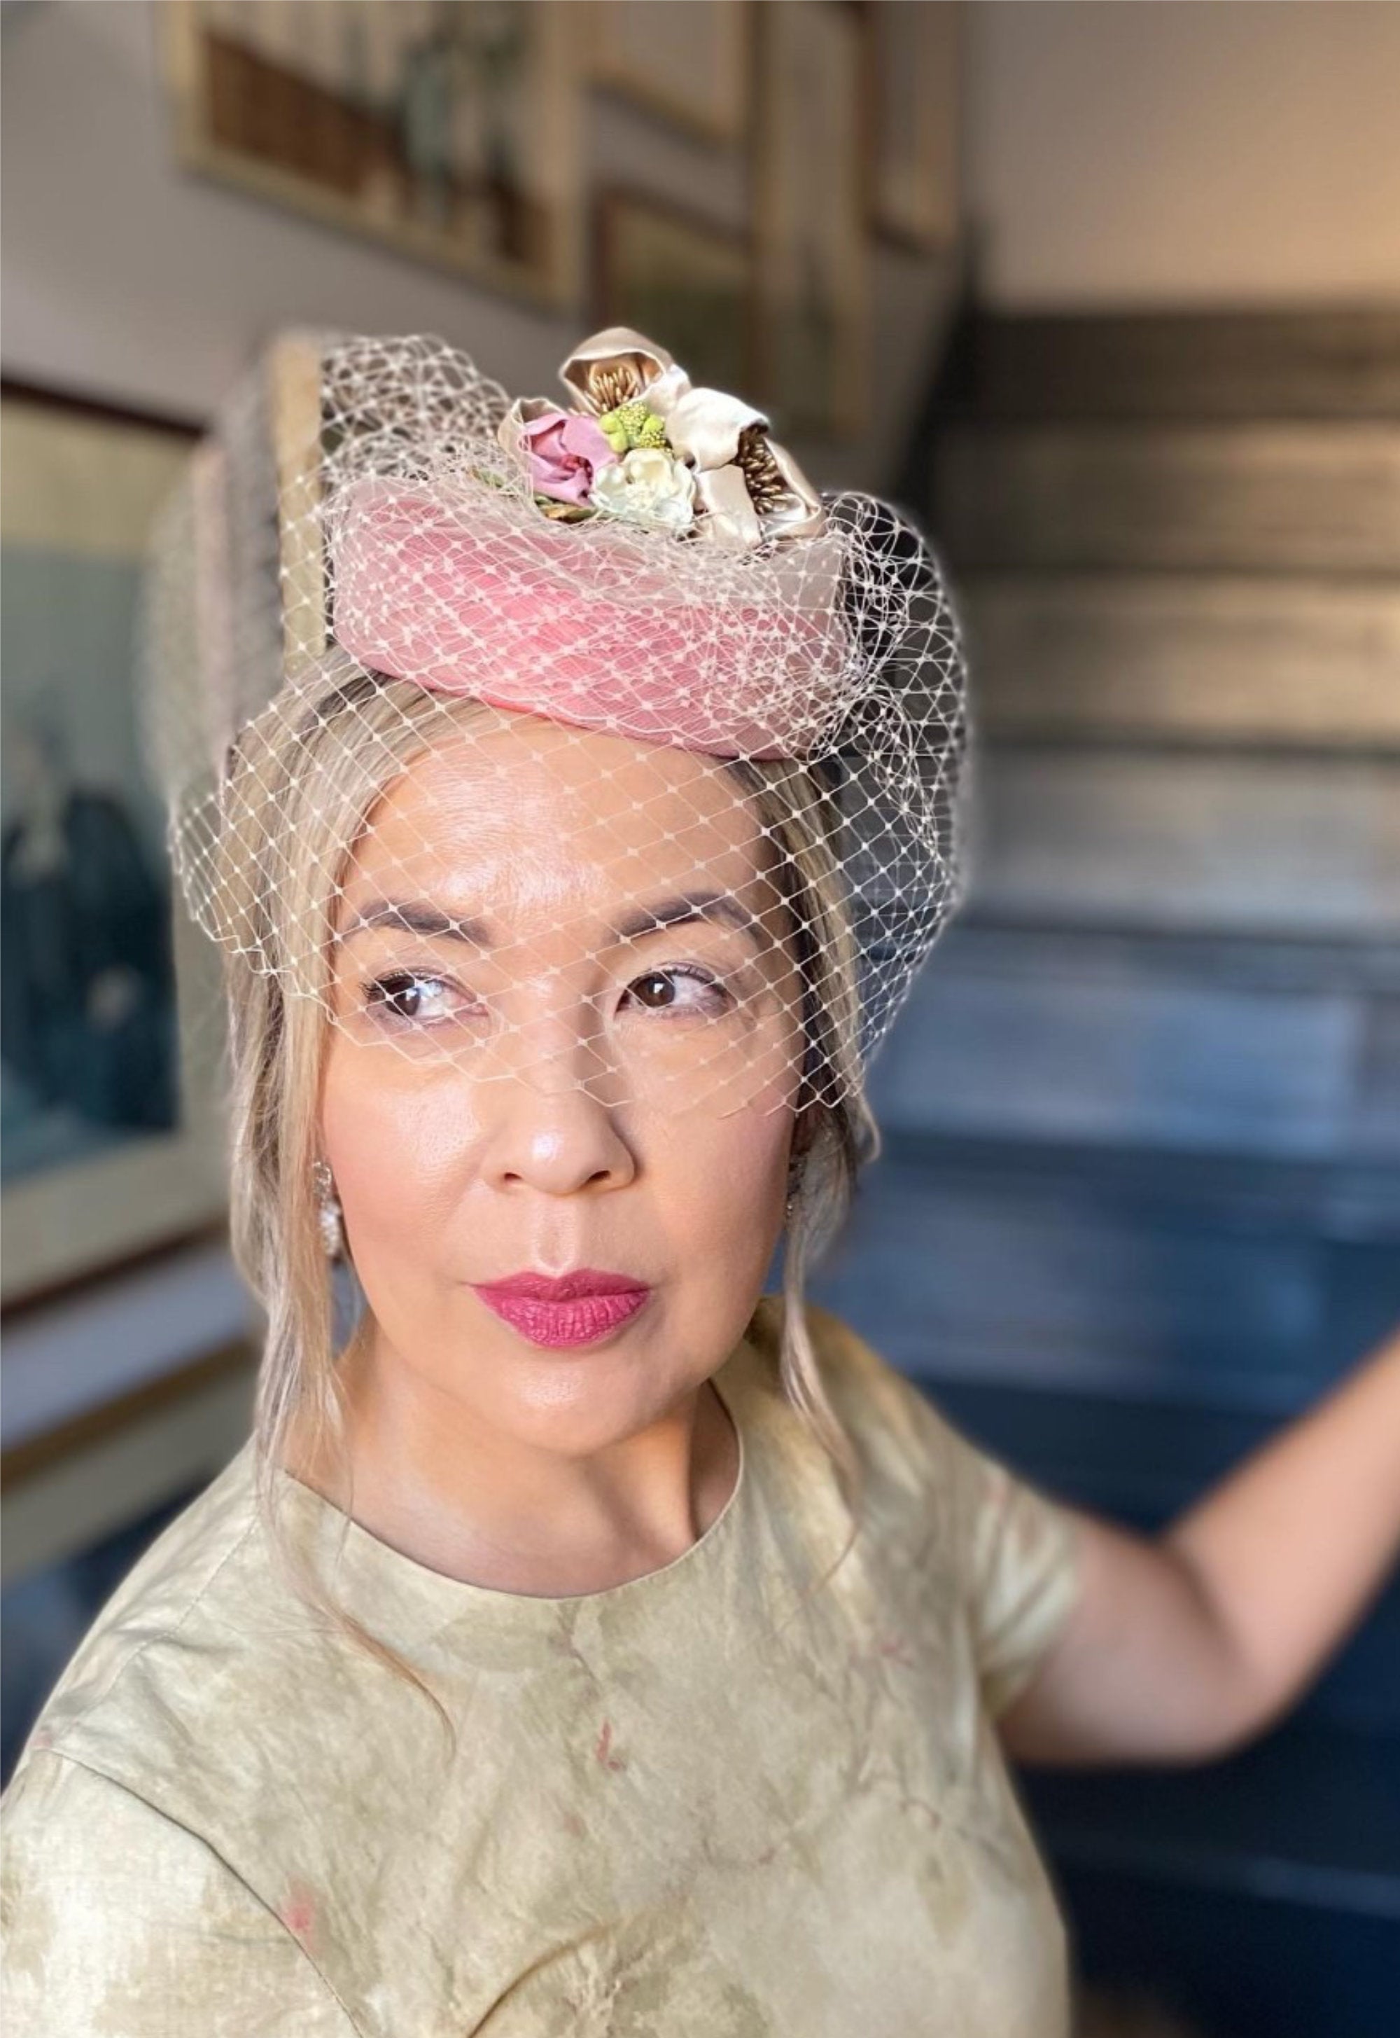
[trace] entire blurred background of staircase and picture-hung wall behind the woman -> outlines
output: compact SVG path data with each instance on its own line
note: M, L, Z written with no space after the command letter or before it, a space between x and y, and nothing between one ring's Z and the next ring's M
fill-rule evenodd
M438 332L514 391L636 324L925 520L974 652L974 882L823 1300L1143 1526L1380 1337L1394 0L0 20L6 1775L249 1431L212 958L171 923L130 662L153 507L285 324ZM1400 1592L1247 1755L1025 1785L1113 2030L1394 2028Z

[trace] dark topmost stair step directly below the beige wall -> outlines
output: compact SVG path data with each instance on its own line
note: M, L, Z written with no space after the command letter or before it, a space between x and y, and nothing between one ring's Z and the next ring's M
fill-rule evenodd
M982 314L966 361L984 416L1400 418L1400 306Z

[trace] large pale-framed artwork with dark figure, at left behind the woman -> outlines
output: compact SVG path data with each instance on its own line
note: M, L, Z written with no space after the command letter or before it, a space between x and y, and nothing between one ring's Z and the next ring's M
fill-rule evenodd
M10 1304L222 1219L218 966L171 911L134 628L194 428L0 391L0 1082Z

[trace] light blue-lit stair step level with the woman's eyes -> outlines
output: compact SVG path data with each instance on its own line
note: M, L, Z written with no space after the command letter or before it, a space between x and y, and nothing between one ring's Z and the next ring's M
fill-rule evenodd
M899 1133L1394 1168L1398 1019L1349 993L935 962L870 1098Z

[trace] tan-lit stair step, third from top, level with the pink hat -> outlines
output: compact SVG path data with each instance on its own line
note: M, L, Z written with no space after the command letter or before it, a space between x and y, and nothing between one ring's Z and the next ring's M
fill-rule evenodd
M982 573L954 599L992 732L1400 748L1400 585Z

